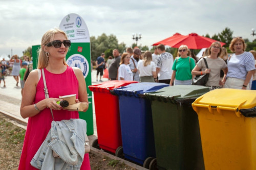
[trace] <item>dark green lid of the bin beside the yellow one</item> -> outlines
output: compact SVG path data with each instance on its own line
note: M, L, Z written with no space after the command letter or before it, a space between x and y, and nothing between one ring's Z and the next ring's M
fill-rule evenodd
M198 85L176 85L164 87L156 92L145 93L150 100L158 99L159 101L182 101L185 99L198 98L202 94L210 91L209 87Z

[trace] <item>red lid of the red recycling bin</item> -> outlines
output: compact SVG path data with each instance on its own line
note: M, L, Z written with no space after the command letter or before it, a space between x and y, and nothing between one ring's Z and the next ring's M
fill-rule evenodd
M106 81L100 84L88 86L91 91L102 91L102 90L113 90L114 88L118 88L121 86L126 86L131 83L138 83L136 81L125 81L125 80L112 80Z

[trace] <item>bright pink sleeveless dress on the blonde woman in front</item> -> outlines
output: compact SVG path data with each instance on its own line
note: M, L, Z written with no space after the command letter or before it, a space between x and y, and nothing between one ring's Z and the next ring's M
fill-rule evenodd
M78 98L78 80L72 69L67 66L67 69L62 74L52 74L46 68L45 77L46 84L49 91L50 98L59 98L59 95L76 94ZM34 103L45 99L44 81L42 76L36 86L36 95ZM63 119L79 118L77 111L67 110L52 110L55 121ZM41 143L45 140L49 130L51 129L51 122L53 118L49 108L40 111L37 115L29 117L27 131L25 134L22 155L20 157L20 170L36 169L30 165L30 161L39 149ZM84 155L81 169L91 169L89 154Z

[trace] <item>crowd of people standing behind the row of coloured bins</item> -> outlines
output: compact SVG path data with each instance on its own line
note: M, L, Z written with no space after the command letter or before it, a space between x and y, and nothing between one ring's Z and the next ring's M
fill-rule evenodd
M241 37L233 38L229 49L233 54L228 55L227 49L216 41L206 48L201 58L191 53L186 45L178 48L175 58L165 51L163 44L157 45L153 54L142 53L138 47L128 47L123 54L115 49L114 59L106 61L106 68L109 80L191 85L195 76L208 74L205 86L210 90L256 89L256 52L245 52L246 44Z

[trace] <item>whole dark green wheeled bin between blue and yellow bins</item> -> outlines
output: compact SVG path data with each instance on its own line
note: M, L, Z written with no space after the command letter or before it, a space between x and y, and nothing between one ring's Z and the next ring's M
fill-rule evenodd
M158 169L204 169L198 115L191 104L209 87L176 85L144 93L151 101Z

